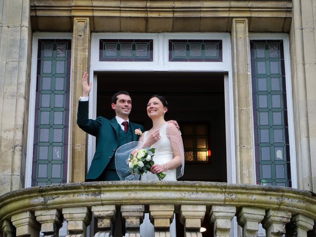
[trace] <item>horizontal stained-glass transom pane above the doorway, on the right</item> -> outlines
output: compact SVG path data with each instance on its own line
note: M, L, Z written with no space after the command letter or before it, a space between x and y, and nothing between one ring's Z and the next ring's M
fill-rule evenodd
M169 40L171 62L222 62L222 40Z

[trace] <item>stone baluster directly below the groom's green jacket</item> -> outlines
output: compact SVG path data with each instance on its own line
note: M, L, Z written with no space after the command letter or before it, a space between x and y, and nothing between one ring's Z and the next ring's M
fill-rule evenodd
M95 205L91 207L92 215L97 219L98 232L97 236L112 236L113 224L116 219L115 205Z

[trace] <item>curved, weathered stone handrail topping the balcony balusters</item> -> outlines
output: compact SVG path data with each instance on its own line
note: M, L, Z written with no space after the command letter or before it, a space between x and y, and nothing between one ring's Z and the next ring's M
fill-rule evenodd
M316 219L316 195L291 188L213 182L91 182L21 189L0 196L0 222L22 211L96 204L198 204L280 209Z

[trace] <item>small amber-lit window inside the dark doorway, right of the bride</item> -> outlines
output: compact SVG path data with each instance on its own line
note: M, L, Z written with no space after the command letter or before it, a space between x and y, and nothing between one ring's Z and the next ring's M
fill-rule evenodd
M211 156L208 144L208 125L181 124L181 133L185 151L185 161L195 163L208 162Z

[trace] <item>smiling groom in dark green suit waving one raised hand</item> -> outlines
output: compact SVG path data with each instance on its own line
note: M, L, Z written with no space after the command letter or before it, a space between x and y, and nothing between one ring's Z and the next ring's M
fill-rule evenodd
M128 119L132 100L127 91L119 91L112 97L111 107L116 117L111 120L103 117L88 119L88 100L92 83L88 84L87 80L88 74L85 72L82 77L77 124L83 131L95 136L98 142L85 181L119 180L115 167L115 152L118 147L128 142L138 141L139 135L135 134L135 129L144 131L144 127Z

